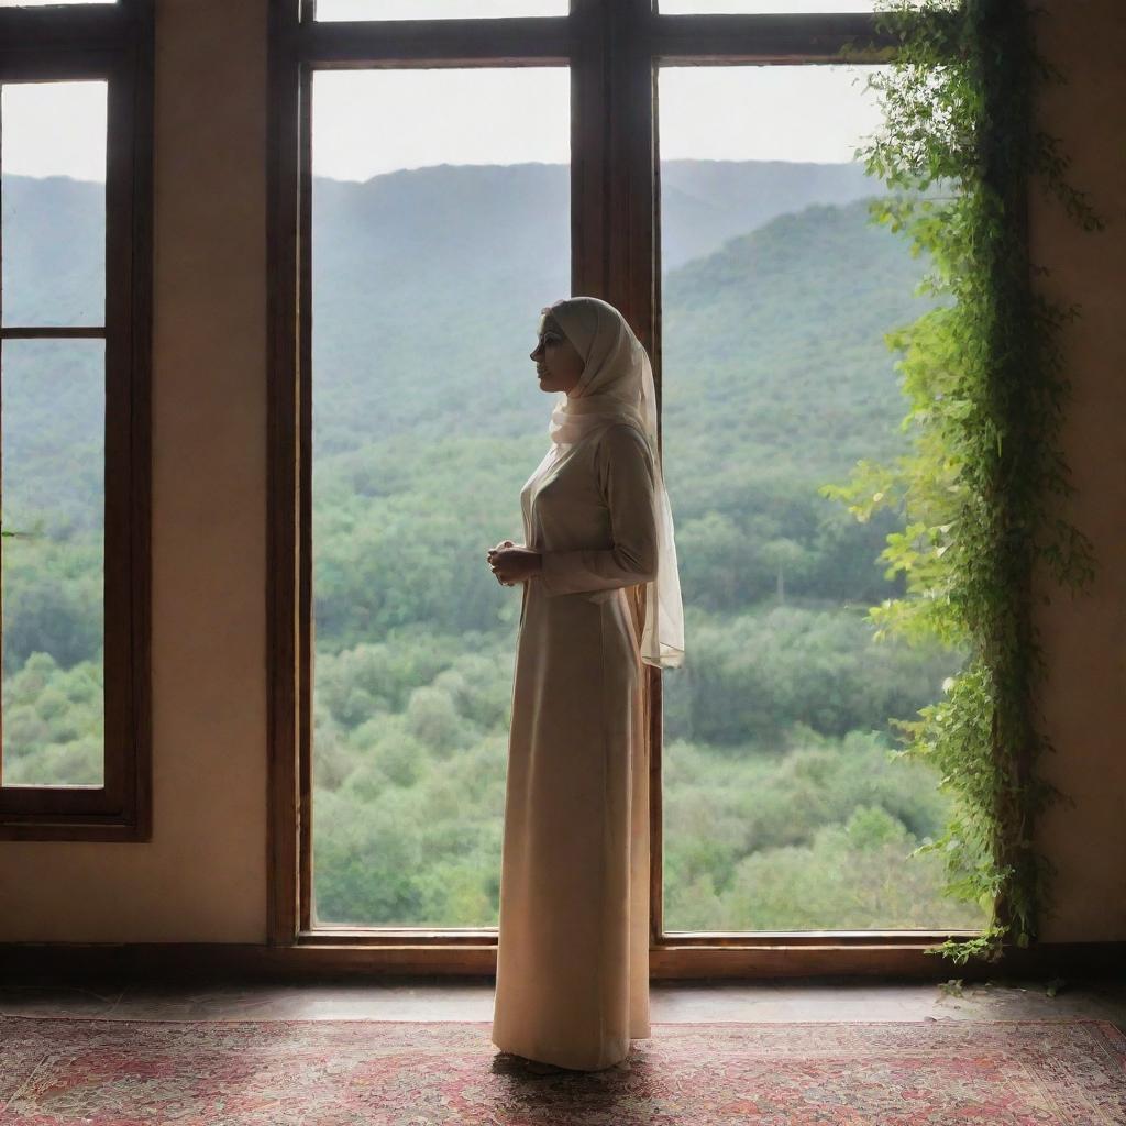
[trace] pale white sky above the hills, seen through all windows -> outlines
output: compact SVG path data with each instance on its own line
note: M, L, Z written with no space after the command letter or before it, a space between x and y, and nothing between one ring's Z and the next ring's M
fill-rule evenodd
M0 0L0 7L11 0ZM26 2L26 0L25 0ZM553 15L560 0L319 0L319 14ZM864 0L788 9L857 10ZM778 10L785 0L665 0L662 10ZM869 0L870 7L870 0ZM663 160L847 161L879 123L872 68L668 66L659 79ZM102 82L9 83L2 162L26 176L105 178ZM565 68L322 71L313 80L313 171L366 180L434 164L570 160Z

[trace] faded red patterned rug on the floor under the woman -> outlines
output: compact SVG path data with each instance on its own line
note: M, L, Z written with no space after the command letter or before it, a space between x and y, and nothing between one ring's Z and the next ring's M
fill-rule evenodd
M654 1024L530 1074L489 1021L0 1018L0 1126L1121 1126L1105 1020Z

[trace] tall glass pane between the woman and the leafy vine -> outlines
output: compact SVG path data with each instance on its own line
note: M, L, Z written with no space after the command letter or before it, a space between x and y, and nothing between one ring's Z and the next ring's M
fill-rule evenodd
M968 928L929 767L890 759L892 717L939 699L964 654L874 642L902 592L817 486L908 450L883 333L927 269L869 222L854 150L861 68L660 72L665 476L687 656L664 676L665 931ZM878 518L877 518L878 517ZM902 579L902 577L899 577Z

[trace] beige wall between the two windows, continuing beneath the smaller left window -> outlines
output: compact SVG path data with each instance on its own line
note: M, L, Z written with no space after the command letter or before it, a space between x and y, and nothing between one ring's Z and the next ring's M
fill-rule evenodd
M0 844L0 939L266 938L266 0L158 0L153 839Z

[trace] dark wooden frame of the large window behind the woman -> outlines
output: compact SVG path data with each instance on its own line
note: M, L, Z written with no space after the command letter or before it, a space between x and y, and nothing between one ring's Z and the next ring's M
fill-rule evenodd
M570 66L572 292L622 310L652 357L660 408L659 68L839 64L846 45L849 62L887 62L896 41L878 35L869 14L661 16L652 0L571 0L570 15L557 17L319 24L314 2L270 0L269 14L268 941L319 947L341 967L490 973L494 927L311 926L312 72ZM793 973L795 965L918 971L924 947L974 933L662 931L661 673L649 665L646 673L656 976Z

